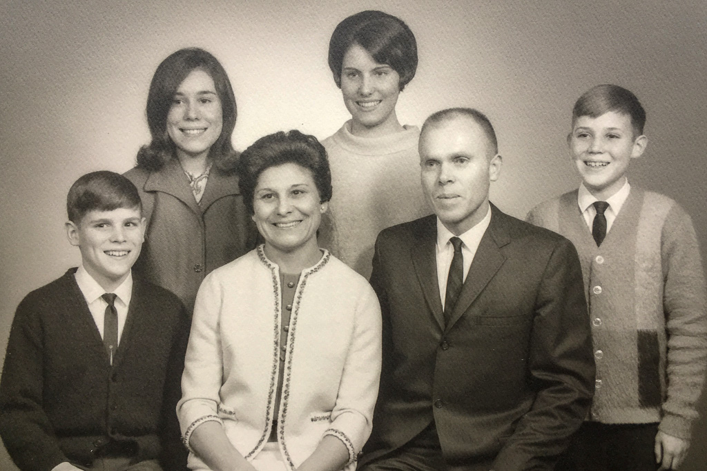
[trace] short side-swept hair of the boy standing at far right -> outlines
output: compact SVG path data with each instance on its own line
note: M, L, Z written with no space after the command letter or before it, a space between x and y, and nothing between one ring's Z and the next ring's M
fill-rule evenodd
M579 117L600 117L607 112L628 114L633 124L634 138L643 134L645 109L636 95L619 85L597 85L587 90L572 109L572 126Z

